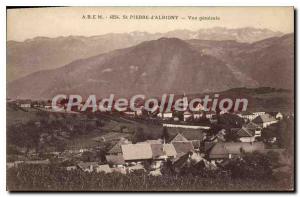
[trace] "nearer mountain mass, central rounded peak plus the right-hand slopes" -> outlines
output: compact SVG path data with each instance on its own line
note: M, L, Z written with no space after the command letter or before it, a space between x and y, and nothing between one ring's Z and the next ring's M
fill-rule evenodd
M293 89L293 43L293 34L255 43L160 38L35 72L8 83L7 93L49 99L61 93L127 97L236 87Z

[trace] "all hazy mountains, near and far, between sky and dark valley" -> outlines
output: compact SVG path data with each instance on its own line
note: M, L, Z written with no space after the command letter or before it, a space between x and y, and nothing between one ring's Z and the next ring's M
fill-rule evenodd
M103 36L110 37L110 41L103 37L100 39L99 36L8 42L8 59L18 56L18 53L26 59L24 54L28 53L35 57L34 60L28 57L28 60L47 62L47 58L40 55L45 46L37 43L47 43L47 47L53 48L48 47L49 56L42 53L51 60L51 64L44 65L44 68L37 66L37 70L43 71L8 83L7 93L11 98L49 99L60 93L96 94L100 97L111 93L118 96L141 93L153 96L163 93L220 91L234 87L293 88L293 34L283 35L254 28L237 29L235 32L221 28L213 30L220 32L214 39L208 37L214 35L212 33L207 33L205 37L200 31L194 34L190 31L174 31L164 36L177 38L158 39L156 34L134 32ZM258 39L262 37L267 39ZM260 41L250 43L255 38ZM142 42L143 40L151 41ZM245 40L248 40L248 43L239 42ZM22 46L16 46L18 44ZM9 48L9 45L15 45L14 50ZM17 52L25 45L30 47ZM41 47L40 50L37 46ZM125 48L126 46L131 47ZM91 48L93 50L90 50ZM104 53L113 48L122 49ZM33 56L34 52L37 55ZM76 60L63 67L56 62L79 59L82 57L80 54L95 56ZM26 62L21 59L18 61ZM9 70L12 60L8 61ZM15 59L14 63L16 62ZM33 65L27 61L24 63L25 68L26 64ZM35 70L37 67L30 68ZM18 66L15 64L13 68ZM45 68L50 70L44 70Z

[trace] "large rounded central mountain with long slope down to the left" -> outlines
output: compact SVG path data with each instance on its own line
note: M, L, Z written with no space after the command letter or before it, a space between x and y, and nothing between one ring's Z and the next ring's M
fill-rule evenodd
M224 74L223 81L214 74L216 70ZM26 98L51 98L58 93L159 95L226 89L237 82L222 61L193 50L180 39L161 38L33 73L10 83L8 94Z

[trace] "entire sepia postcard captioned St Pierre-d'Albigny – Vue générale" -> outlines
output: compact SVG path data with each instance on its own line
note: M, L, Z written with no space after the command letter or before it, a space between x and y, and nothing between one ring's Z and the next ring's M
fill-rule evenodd
M7 7L8 191L294 191L293 7Z

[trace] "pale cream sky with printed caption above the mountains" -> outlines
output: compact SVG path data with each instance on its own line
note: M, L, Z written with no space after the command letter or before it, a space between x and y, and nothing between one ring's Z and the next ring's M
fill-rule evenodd
M102 19L83 19L101 15ZM110 19L118 15L120 19ZM178 20L123 19L126 15L178 16ZM193 16L196 20L188 19ZM202 16L220 20L198 20ZM106 33L175 29L198 30L212 27L268 28L294 32L293 7L60 7L7 10L7 40L24 41L37 36L93 36Z

